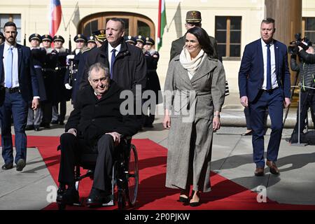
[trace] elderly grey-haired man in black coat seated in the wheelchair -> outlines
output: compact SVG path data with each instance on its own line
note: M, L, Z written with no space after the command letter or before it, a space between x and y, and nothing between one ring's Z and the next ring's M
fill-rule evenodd
M97 152L94 180L87 205L107 203L111 195L113 154L121 136L132 136L139 130L136 117L120 113L122 89L110 79L109 69L102 63L90 66L90 86L78 92L77 104L60 137L61 161L57 202L74 204L79 201L74 167L83 152Z

